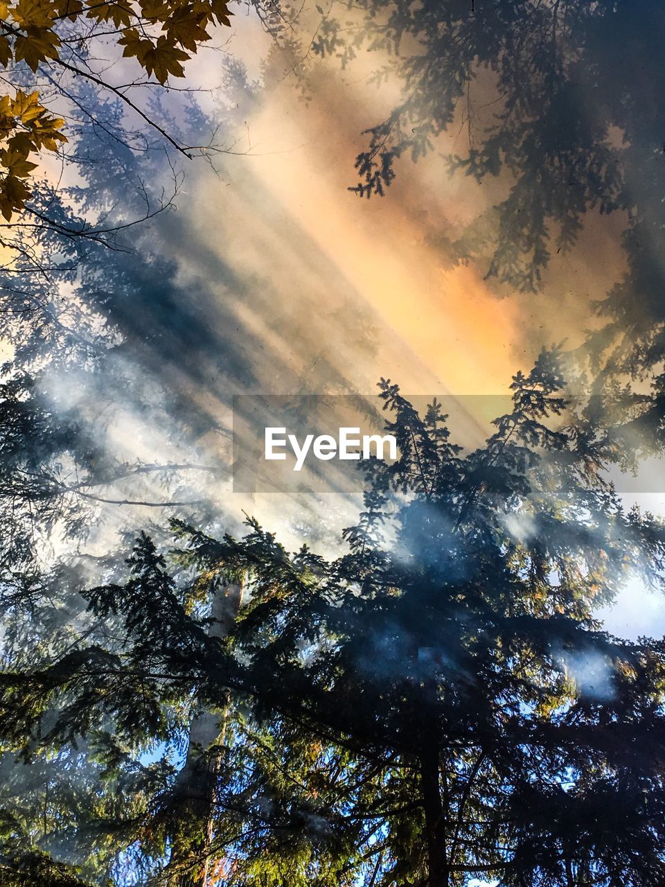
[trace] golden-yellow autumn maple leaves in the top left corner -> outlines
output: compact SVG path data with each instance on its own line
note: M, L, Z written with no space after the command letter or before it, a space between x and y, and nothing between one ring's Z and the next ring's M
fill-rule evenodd
M90 46L111 40L125 58L136 59L146 75L164 85L169 77L184 77L184 62L211 39L211 27L231 24L230 15L224 0L0 2L0 65L10 75L0 98L0 212L5 220L11 222L25 208L39 153L56 152L67 141L65 120L40 104L39 89L14 89L14 75L24 82L27 66L35 87L41 75L52 85L56 75L68 72L103 88L106 82L88 63ZM66 53L71 46L86 54Z

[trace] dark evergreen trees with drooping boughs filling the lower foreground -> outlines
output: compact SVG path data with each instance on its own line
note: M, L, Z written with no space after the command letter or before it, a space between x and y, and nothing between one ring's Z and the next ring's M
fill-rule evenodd
M657 883L662 644L594 613L630 577L661 587L665 535L623 510L562 386L544 352L465 453L439 404L382 382L400 456L372 462L348 553L175 522L174 571L142 536L126 582L83 592L85 637L8 663L4 741L32 759L82 736L127 780L146 742L181 741L178 712L216 711L174 883ZM162 777L123 820L156 883L184 803Z

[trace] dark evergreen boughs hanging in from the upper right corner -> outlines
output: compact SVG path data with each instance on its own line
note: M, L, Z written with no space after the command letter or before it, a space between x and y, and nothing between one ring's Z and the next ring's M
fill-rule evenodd
M313 50L348 62L360 51L387 56L380 79L403 95L367 130L356 160L362 196L383 194L403 156L418 161L459 130L449 169L510 190L481 240L488 275L535 290L553 252L575 244L590 209L627 216L630 271L608 310L633 334L661 320L658 247L663 216L660 4L630 0L442 3L361 0L351 15L332 4ZM462 135L464 133L464 135ZM464 150L463 150L464 149ZM474 225L473 227L476 227ZM449 245L454 258L478 243Z

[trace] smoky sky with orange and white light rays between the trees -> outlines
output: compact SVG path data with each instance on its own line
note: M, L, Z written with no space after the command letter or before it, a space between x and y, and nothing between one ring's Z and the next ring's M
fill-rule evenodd
M326 467L293 483L234 486L256 436L248 416L258 402L238 396L269 404L270 397L317 396L335 416L345 414L345 398L360 396L364 418L375 421L377 382L389 379L421 408L441 400L453 441L473 449L507 412L514 373L528 373L541 349L575 349L598 328L594 303L626 267L625 216L594 211L575 247L552 255L536 293L488 279L482 249L467 263L452 260L451 240L467 232L489 240L491 209L512 185L505 170L479 184L450 174L444 162L464 153L473 125L495 113L482 78L469 98L473 125L460 108L424 159L398 161L385 197L363 200L349 186L364 130L398 99L394 82L373 82L381 53L360 51L346 67L309 58L301 82L293 58L251 14L235 16L232 34L214 43L200 48L178 85L197 90L216 148L192 161L174 158L183 176L176 211L137 229L135 254L113 256L118 271L104 284L118 290L109 298L126 337L111 349L113 372L101 382L59 366L45 373L53 404L82 412L116 465L178 466L170 484L168 472L145 471L91 490L101 496L98 520L74 543L92 555L82 559L90 585L99 581L99 555L119 545L126 551L121 531L147 529L169 545L172 514L218 537L243 533L253 515L290 550L307 542L317 553L339 553L340 532L362 507L357 477ZM246 66L244 89L230 80L235 61ZM113 67L118 82L127 64ZM168 101L186 122L185 94L170 93ZM54 179L61 172L46 171ZM169 171L162 169L167 186ZM134 185L116 184L129 200ZM159 190L160 182L152 184ZM129 295L121 296L123 287ZM627 507L638 502L665 515L661 462L614 480ZM184 504L169 506L172 500ZM44 557L69 544L51 538ZM124 565L116 561L103 580L117 569ZM665 635L665 600L638 576L598 615L623 638ZM566 662L598 698L610 692L606 667L590 657ZM153 749L144 763L163 751Z

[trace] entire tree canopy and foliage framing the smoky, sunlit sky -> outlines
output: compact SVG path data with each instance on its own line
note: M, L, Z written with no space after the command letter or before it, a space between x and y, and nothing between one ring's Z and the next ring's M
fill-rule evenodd
M279 18L270 6L261 14ZM603 397L569 398L570 360L545 351L469 452L441 404L420 416L382 381L400 456L372 463L339 556L287 551L254 518L243 537L216 532L205 498L171 522L170 544L157 521L123 534L120 557L45 555L55 528L58 543L84 539L99 503L187 506L178 473L221 470L114 458L48 381L89 386L101 425L118 390L125 405L171 406L178 394L146 394L142 373L174 341L218 348L209 309L135 227L168 205L164 177L174 191L180 179L128 114L178 153L208 122L195 106L184 122L146 119L95 47L123 53L116 73L138 68L134 87L159 90L229 11L216 0L0 7L0 208L14 255L0 274L13 352L0 380L7 887L665 878L663 642L612 637L597 612L631 582L662 586L665 528L626 510L606 474L665 440L660 75L638 77L634 62L636 46L657 57L662 12L566 0L340 9L319 11L314 50L387 51L405 90L369 133L357 192L382 193L401 156L433 151L466 100L469 151L450 166L511 178L490 274L536 288L552 243L572 246L591 208L626 214L629 271L592 341ZM280 26L288 40L296 24ZM229 116L242 121L235 98L253 91L241 66L231 74ZM496 114L480 121L490 97ZM66 121L60 100L80 116ZM66 137L80 180L35 182L35 159ZM466 261L478 242L446 248ZM219 317L232 328L231 311ZM219 360L231 367L240 347L231 338ZM141 371L131 378L128 354ZM208 384L200 365L190 372ZM184 400L183 434L215 429ZM162 479L159 501L109 492L145 475Z

